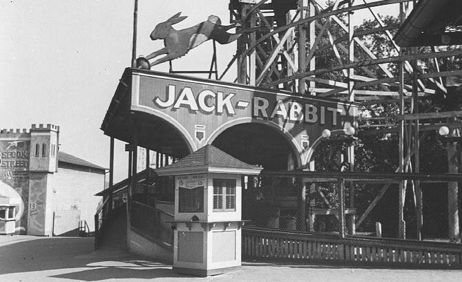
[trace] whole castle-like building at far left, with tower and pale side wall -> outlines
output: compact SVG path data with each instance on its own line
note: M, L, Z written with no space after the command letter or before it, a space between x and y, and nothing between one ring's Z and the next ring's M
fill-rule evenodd
M59 151L59 126L1 129L0 234L71 235L85 221L92 231L105 171Z

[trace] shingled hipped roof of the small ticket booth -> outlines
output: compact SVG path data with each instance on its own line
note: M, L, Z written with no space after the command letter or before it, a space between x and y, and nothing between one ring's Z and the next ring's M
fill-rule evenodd
M208 168L219 168L222 172L229 173L260 173L262 170L262 167L242 162L209 144L169 166L155 169L155 172L159 175L169 175L181 171L215 171Z

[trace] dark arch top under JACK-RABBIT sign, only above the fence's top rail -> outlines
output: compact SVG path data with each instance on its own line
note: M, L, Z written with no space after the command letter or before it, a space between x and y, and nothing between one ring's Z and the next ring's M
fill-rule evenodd
M276 129L258 123L245 123L224 130L213 146L249 164L267 170L292 170L298 167L296 151L287 137Z

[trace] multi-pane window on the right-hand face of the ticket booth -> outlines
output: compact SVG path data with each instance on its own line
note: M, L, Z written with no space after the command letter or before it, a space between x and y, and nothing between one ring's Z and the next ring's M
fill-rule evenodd
M235 211L235 179L213 179L213 212Z

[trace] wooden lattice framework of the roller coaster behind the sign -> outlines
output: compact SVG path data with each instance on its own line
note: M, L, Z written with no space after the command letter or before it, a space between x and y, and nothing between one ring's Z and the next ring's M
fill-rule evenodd
M418 109L418 99L445 95L445 77L462 75L461 69L441 69L441 62L461 56L462 48L400 48L396 45L394 30L405 21L413 3L409 0L332 0L327 6L323 0L231 0L231 21L241 21L242 28L255 28L256 31L240 37L237 53L225 73L235 63L238 67L236 80L244 84L363 104L399 102L399 115L361 117L367 124L360 127L378 129L374 133L398 133L400 164L396 172L418 172L416 152L424 131L443 125L450 129L462 127L453 119L442 120L460 117L460 111L441 115L420 113ZM396 11L398 24L387 26L378 15L378 8ZM360 11L371 15L376 23L374 28L357 30L353 18ZM368 47L365 37L378 32L392 44L391 52L376 54ZM335 63L316 66L316 58L327 50L334 54ZM352 150L351 147L348 153L350 161L354 156ZM415 191L417 236L420 238L422 192L418 182L403 181L401 184L399 232L403 238L407 185L412 185ZM370 209L388 186L385 185ZM358 225L370 209L358 220Z

